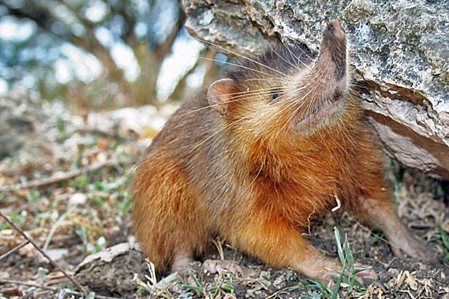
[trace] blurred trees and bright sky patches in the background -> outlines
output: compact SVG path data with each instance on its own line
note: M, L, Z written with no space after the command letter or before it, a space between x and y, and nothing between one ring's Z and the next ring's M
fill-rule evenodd
M217 74L177 0L0 0L0 94L81 115L192 97Z

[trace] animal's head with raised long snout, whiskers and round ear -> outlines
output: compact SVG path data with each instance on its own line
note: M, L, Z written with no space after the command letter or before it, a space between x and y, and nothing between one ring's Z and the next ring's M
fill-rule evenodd
M350 122L357 109L346 32L337 20L326 26L318 57L311 56L301 46L280 46L245 57L209 87L209 104L242 144L271 153L307 150Z

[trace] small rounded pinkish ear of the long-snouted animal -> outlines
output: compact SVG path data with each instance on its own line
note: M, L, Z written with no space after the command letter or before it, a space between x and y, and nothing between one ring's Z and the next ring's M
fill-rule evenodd
M221 79L215 81L208 89L209 105L215 108L225 119L231 118L233 110L232 99L235 92L235 81L232 79Z

